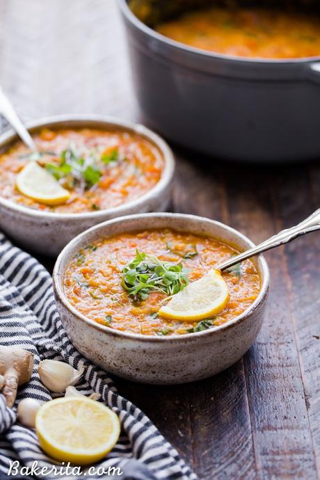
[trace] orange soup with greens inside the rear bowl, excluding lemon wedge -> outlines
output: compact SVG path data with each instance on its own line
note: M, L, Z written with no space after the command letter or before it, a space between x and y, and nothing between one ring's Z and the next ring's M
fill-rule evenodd
M33 139L41 153L40 166L71 195L67 202L49 206L19 193L15 181L31 157L25 145L16 143L0 156L0 195L25 207L74 214L109 209L147 193L161 178L161 152L136 134L43 129Z

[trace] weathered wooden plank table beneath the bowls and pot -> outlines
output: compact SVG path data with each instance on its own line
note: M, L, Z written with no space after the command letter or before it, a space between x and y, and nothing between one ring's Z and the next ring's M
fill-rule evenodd
M138 120L123 37L114 0L0 0L0 82L24 119L81 112ZM320 206L317 164L175 154L173 211L223 221L255 242ZM310 234L266 255L267 318L237 365L175 387L116 379L202 480L319 478L319 239Z

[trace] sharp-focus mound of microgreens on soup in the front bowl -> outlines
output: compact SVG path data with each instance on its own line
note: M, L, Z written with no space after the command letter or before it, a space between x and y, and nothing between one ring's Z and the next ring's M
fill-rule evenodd
M158 257L136 250L136 257L122 270L122 287L134 301L145 300L152 290L177 294L188 285L186 271L179 262L162 262Z

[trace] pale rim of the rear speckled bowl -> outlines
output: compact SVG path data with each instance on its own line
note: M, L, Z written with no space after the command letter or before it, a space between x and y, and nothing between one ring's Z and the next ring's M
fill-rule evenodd
M31 217L38 217L43 218L44 220L72 220L72 221L81 221L83 219L88 218L96 218L99 220L99 217L104 217L106 214L114 214L114 216L121 216L123 211L127 211L128 208L139 207L144 205L147 200L154 198L154 196L158 196L161 194L163 190L170 184L171 180L173 179L173 173L175 171L175 159L173 156L173 152L170 149L168 143L161 138L158 134L154 133L154 131L148 129L144 125L139 123L130 122L127 120L122 120L117 117L113 117L111 115L87 115L86 113L72 113L72 114L64 114L64 115L50 115L48 117L43 117L38 120L33 120L32 122L27 122L25 124L26 129L31 131L36 131L41 127L54 127L62 124L63 127L64 122L79 122L83 123L83 127L86 126L86 122L88 124L95 123L100 124L100 128L103 129L105 126L107 127L114 127L119 129L124 129L133 132L134 134L140 135L145 138L147 141L150 141L152 145L158 148L159 152L163 157L163 171L159 182L155 184L152 189L143 193L138 198L131 200L130 202L123 203L118 205L117 207L111 207L109 209L103 209L99 211L88 211L79 214L74 213L67 213L61 214L59 212L54 211L40 211L36 209L32 209L30 207L24 207L24 205L19 205L18 203L13 202L12 200L8 200L7 198L3 198L0 196L0 206L4 206L7 209L17 211L20 214L24 214L26 216ZM79 125L80 126L80 125ZM91 127L95 127L95 125L91 125ZM99 128L99 125L96 126ZM0 149L6 147L12 141L19 139L15 131L10 128L4 134L0 136Z

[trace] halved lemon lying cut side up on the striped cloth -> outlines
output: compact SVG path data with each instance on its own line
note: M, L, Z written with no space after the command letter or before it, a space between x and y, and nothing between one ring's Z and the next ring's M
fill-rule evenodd
M63 397L44 403L35 417L40 447L57 460L88 465L115 446L120 422L103 403L87 397Z

